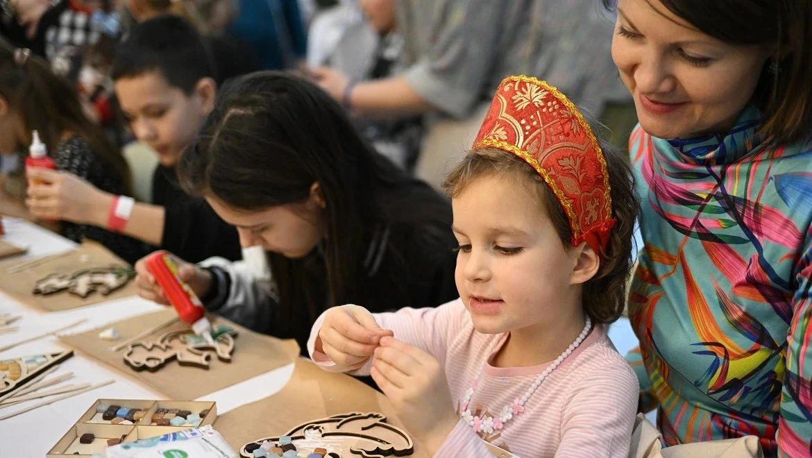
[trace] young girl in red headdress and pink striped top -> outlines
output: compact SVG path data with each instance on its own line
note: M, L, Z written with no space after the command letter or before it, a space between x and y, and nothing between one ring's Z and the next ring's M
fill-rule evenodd
M575 106L524 76L499 86L448 175L460 299L313 326L313 361L372 374L430 456L628 453L637 379L603 324L620 316L637 201ZM483 442L484 440L484 442Z

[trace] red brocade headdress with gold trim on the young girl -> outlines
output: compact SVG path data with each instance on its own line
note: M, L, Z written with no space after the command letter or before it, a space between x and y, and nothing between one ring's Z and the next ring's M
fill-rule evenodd
M572 245L603 253L615 219L603 149L581 112L558 89L508 76L497 89L473 149L515 154L541 175L567 214Z

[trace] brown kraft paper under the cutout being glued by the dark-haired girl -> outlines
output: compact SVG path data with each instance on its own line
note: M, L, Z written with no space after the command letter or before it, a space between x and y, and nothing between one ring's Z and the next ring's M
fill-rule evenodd
M176 316L174 309L166 309L127 318L119 322L108 323L102 328L76 335L61 335L59 339L80 352L93 356L97 360L123 371L132 378L144 382L155 391L173 400L193 400L214 391L222 390L222 388L231 387L236 383L288 365L299 355L299 346L293 340L280 340L268 335L260 335L229 322L225 318L218 318L214 315L209 316L209 321L212 322L213 326L231 326L237 332L231 362L220 361L214 355L214 352L211 352L209 369L182 366L177 361L168 361L166 365L155 372L149 372L149 370L136 371L124 362L123 356L127 352L126 346L119 352L110 349ZM119 339L118 343L99 338L99 332L109 327L114 327L119 331L121 339ZM156 331L153 335L141 339L141 341L157 341L168 332L188 329L189 326L184 322L175 322L172 326Z

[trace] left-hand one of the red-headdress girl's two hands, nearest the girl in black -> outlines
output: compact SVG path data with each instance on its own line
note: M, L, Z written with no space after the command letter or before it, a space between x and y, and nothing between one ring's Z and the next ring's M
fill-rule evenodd
M392 331L382 330L369 310L358 305L333 307L318 331L315 350L344 370L358 369L387 335L393 335Z

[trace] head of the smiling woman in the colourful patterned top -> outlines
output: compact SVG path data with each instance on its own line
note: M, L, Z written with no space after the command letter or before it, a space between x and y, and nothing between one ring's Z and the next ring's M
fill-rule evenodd
M809 134L809 2L604 2L617 5L612 57L646 132L726 132L753 103L765 115L763 136L788 142Z

